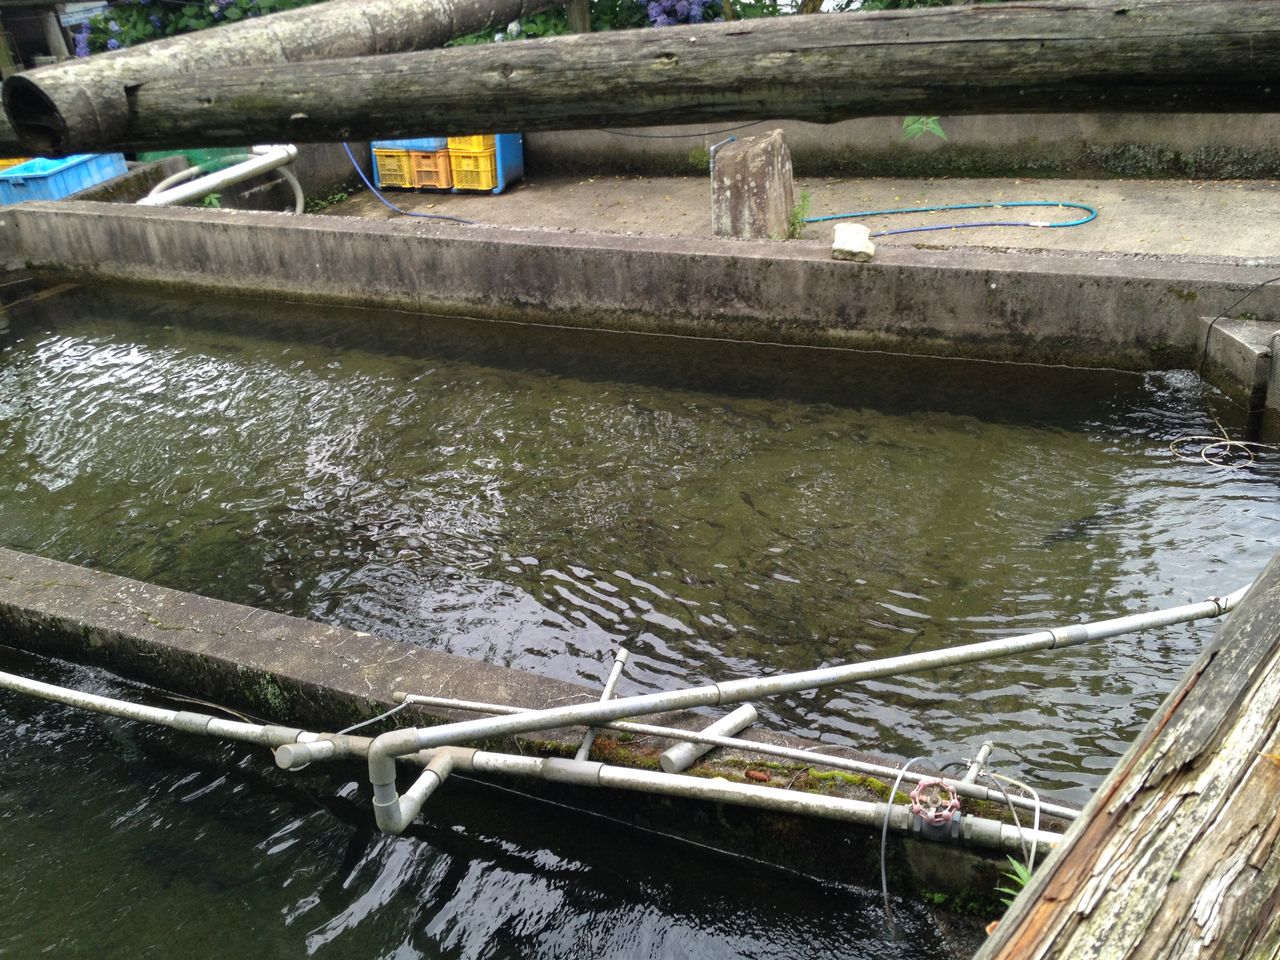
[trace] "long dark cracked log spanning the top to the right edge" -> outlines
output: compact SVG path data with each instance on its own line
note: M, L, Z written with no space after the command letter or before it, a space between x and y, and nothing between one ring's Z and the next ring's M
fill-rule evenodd
M1062 0L529 40L142 83L123 141L366 140L794 118L1274 111L1280 0Z

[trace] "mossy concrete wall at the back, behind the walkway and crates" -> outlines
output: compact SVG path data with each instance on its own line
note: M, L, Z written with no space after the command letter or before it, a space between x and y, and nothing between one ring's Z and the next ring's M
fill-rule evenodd
M646 127L525 136L532 174L694 173L724 137L780 127L801 177L1179 177L1280 175L1280 115L1030 114L942 118L902 140L902 119L833 124Z

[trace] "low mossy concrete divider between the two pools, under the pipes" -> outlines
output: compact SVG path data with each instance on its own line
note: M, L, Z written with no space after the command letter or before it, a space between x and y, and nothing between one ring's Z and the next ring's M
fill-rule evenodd
M0 645L99 664L164 690L250 709L289 726L334 731L392 704L396 690L470 700L549 707L599 699L599 691L531 673L380 640L268 611L211 600L84 567L0 548ZM444 716L420 712L419 723ZM658 722L703 726L699 718ZM407 721L406 721L407 722ZM524 751L577 746L581 731L524 740ZM562 744L556 737L571 737ZM801 745L795 739L765 736ZM598 739L596 758L657 768L668 742L625 748ZM571 746L570 746L571 745ZM733 754L701 762L709 776L742 777ZM756 764L765 765L768 764ZM782 788L805 769L780 773ZM364 782L362 771L353 776ZM836 792L876 799L869 778L850 777ZM887 791L887 785L881 785ZM810 820L705 803L585 790L527 781L520 792L659 829L698 844L749 855L840 882L878 883L879 833L833 820ZM989 815L991 810L986 812ZM902 892L992 891L1004 860L960 847L937 855L934 844L893 838L893 886Z

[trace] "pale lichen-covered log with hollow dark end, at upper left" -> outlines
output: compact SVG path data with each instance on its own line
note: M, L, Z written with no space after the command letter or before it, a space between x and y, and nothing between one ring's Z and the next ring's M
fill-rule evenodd
M145 81L422 50L556 5L552 0L330 0L15 74L5 81L4 106L31 152L76 154L124 138L125 91ZM274 141L279 134L253 140Z

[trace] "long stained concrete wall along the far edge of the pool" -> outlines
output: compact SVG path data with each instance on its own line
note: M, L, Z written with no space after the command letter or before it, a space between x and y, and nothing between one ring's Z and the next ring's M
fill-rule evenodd
M778 343L1128 369L1192 362L1242 264L741 242L109 204L0 212L35 269L192 291ZM1280 289L1251 301L1280 312Z

